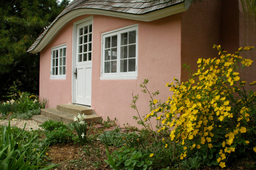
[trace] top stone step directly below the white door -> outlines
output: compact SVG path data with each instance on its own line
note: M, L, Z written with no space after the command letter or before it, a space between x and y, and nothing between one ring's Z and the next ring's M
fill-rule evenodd
M57 110L60 110L62 112L78 115L80 113L81 115L91 115L93 112L93 109L89 107L74 105L74 104L66 104L66 105L57 105Z

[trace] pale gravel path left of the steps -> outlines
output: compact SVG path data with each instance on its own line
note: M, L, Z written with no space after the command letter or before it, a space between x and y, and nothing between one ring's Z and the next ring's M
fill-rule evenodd
M33 121L33 120L20 120L20 119L12 119L11 121L11 126L16 126L20 129L23 129L25 123L26 127L25 130L36 130L36 129L42 129L41 127L39 127L39 123ZM9 120L5 119L5 120L0 120L0 125L6 125L8 126Z

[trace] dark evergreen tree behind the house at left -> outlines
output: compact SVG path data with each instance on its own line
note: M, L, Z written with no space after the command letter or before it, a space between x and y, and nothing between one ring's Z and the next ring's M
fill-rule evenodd
M38 94L39 53L27 49L68 5L69 0L0 0L0 100L13 81Z

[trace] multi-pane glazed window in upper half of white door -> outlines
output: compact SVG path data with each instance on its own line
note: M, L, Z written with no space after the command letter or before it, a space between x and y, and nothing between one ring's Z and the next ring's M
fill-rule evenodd
M78 61L92 60L92 24L84 26L78 32Z

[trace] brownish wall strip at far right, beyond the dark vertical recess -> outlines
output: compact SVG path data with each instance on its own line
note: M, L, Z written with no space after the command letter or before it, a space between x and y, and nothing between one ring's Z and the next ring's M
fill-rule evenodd
M245 1L244 1L245 2ZM254 9L254 12L256 10ZM255 12L256 13L256 12ZM250 58L254 61L250 67L245 67L240 72L241 80L245 80L247 85L245 88L256 90L255 86L248 84L256 80L256 16L255 13L248 13L243 9L241 1L239 1L239 47L254 46L254 50L244 51L240 55L244 58Z

